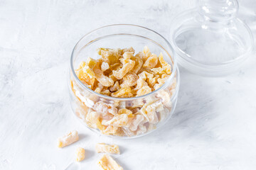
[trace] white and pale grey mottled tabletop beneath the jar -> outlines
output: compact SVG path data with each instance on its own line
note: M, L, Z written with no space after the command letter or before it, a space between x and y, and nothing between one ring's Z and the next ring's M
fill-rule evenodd
M151 135L113 140L76 120L66 87L70 54L88 31L111 23L134 23L168 36L174 14L195 1L0 1L0 169L65 169L75 149L87 158L78 169L99 169L97 142L114 143L124 169L255 169L255 52L238 72L198 77L181 69L173 118ZM256 3L240 1L239 16L256 35ZM256 36L255 36L256 37ZM59 149L69 130L82 139Z

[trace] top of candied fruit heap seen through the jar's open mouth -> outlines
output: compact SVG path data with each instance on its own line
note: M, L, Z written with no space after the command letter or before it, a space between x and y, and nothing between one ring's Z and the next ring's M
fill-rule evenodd
M163 55L151 54L148 47L134 55L126 49L98 49L101 58L81 62L75 70L78 79L99 94L129 98L159 89L171 74L171 65Z

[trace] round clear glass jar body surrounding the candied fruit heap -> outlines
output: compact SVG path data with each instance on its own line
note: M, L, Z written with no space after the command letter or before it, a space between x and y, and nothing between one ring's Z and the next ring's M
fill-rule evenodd
M99 47L133 47L136 52L139 52L144 46L149 47L154 54L162 52L164 60L171 64L169 79L150 94L132 98L105 96L82 84L75 74L75 69L80 62L86 61L87 57L95 60L100 58L97 55ZM70 60L68 84L73 112L90 130L105 135L122 138L138 137L156 130L169 120L176 107L180 78L175 57L173 48L163 36L142 26L119 24L92 30L75 45ZM129 123L122 127L102 125L102 117L105 115L101 112L118 111L122 108L132 111L133 116L129 121L135 118L137 121L134 120L132 125ZM92 111L100 113L96 116L90 114Z

